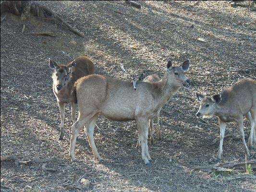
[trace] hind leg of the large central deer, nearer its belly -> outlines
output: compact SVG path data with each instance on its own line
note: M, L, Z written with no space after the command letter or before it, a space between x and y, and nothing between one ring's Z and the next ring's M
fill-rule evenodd
M88 126L85 129L89 144L92 148L93 151L93 155L94 157L98 160L101 161L102 159L100 158L99 154L98 154L98 150L96 148L96 145L94 143L94 139L93 139L93 132L94 132L94 127L96 124L96 120L97 120L98 114L96 114L93 118L91 118L89 120Z

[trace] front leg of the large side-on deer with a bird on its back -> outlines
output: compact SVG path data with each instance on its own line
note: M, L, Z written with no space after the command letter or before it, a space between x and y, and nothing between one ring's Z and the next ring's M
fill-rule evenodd
M141 142L141 156L144 160L144 163L146 165L151 165L149 163L149 160L151 160L149 153L148 153L148 147L147 147L147 136L148 136L148 120L136 120L137 126L138 126L138 132L139 132L139 139ZM149 159L148 159L149 157Z

